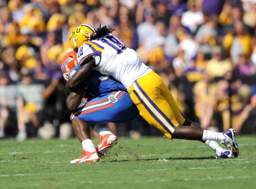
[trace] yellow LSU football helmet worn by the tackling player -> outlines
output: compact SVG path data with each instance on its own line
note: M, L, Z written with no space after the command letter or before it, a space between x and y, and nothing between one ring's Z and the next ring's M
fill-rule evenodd
M90 36L95 34L95 29L88 25L82 24L77 26L70 34L69 42L72 48L79 48L87 41L90 41Z

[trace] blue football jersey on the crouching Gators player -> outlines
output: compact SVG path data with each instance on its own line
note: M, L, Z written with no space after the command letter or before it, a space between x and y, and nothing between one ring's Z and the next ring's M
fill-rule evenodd
M69 79L72 78L79 67L79 65L76 65L70 70ZM88 82L86 92L97 97L105 96L114 91L127 91L125 87L112 76L102 75L96 70L92 70L86 80Z

